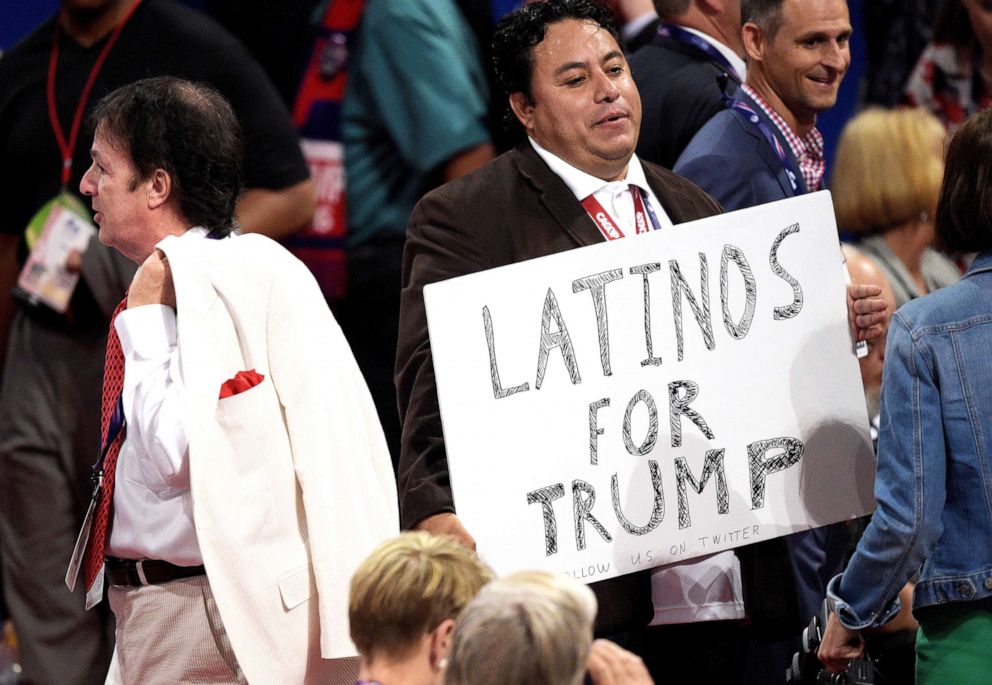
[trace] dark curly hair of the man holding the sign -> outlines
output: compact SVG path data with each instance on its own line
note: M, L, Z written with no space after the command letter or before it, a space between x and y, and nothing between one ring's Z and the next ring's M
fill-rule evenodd
M544 40L549 25L565 19L598 24L620 43L613 13L595 0L544 0L524 5L503 17L493 34L493 66L504 94L523 93L531 99L534 46Z

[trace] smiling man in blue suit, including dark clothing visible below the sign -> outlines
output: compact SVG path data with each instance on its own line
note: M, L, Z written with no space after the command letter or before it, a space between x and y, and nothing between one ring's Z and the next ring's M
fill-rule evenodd
M742 0L741 15L745 83L674 167L728 211L822 187L816 115L833 107L851 61L845 0ZM843 526L828 526L741 550L751 597L748 683L785 682L845 546Z

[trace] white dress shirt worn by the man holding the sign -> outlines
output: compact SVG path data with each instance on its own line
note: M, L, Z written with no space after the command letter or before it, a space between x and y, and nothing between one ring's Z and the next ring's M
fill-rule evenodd
M548 152L533 138L530 144L551 170L565 182L575 199L582 202L595 196L603 208L620 224L624 235L634 234L634 204L630 186L647 192L662 229L674 228L654 191L648 185L637 155L630 158L623 181L604 181ZM654 620L651 625L695 623L698 621L738 620L744 618L744 592L737 555L720 552L703 559L656 568L651 572L651 598Z

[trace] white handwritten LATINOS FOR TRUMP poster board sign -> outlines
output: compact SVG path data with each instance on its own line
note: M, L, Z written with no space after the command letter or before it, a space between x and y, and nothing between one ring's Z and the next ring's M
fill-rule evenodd
M827 192L424 297L455 508L497 573L604 580L874 507Z

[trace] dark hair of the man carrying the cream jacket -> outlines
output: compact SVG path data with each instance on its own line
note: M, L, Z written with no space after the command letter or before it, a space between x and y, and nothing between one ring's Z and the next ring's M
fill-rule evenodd
M132 185L164 169L190 226L218 236L234 229L243 184L242 139L223 95L171 76L142 79L100 100L89 122L126 148L138 172Z

